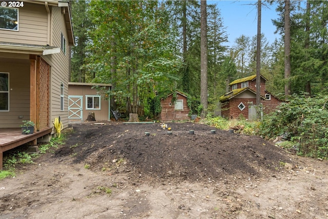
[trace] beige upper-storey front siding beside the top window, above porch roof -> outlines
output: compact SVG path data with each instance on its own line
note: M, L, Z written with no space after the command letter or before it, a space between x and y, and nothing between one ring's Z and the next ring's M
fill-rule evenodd
M0 42L47 45L45 5L24 3L18 8L18 31L0 30Z

